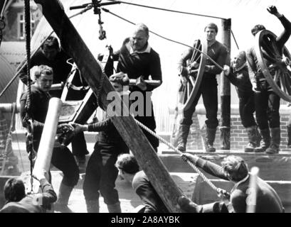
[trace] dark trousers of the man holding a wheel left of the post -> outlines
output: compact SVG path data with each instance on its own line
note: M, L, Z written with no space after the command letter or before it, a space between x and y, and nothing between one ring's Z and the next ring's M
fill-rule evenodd
M217 111L218 111L218 94L217 94L216 77L204 77L193 104L191 107L183 111L183 118L180 121L181 125L191 126L193 123L192 116L195 112L196 105L202 95L203 104L206 109L206 126L207 128L216 128L218 126Z

